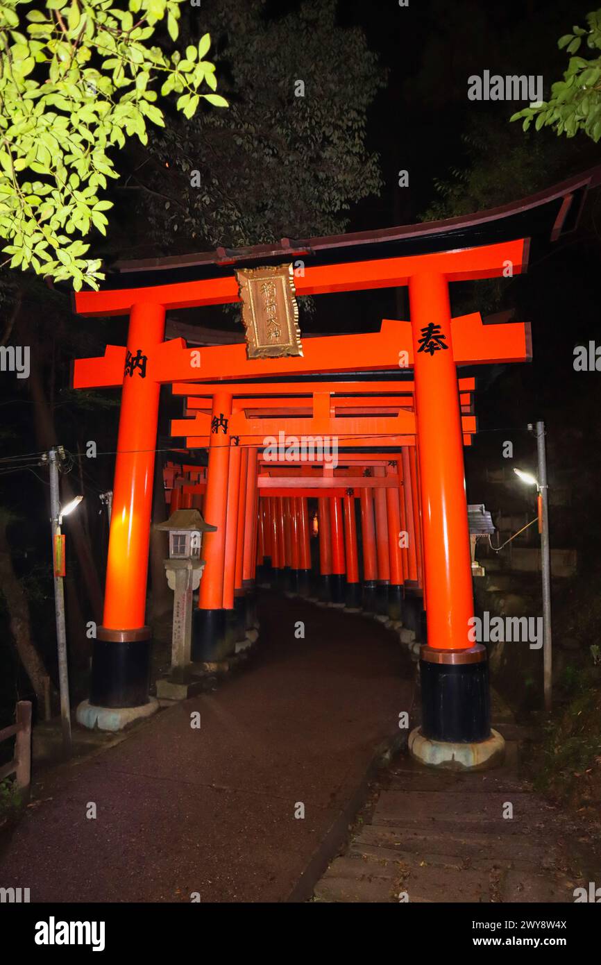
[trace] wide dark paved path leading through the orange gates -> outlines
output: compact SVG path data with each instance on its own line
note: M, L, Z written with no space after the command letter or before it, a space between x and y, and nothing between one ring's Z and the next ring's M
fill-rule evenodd
M314 872L311 894L323 841L398 735L414 669L373 620L271 593L260 610L241 674L42 776L4 843L0 887L32 901L284 901Z

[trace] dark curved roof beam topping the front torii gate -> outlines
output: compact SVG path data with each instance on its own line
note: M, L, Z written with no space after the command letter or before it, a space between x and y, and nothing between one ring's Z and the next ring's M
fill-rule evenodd
M161 284L169 284L231 275L232 265L253 267L302 258L307 266L313 266L424 255L518 237L556 240L576 228L588 189L599 184L601 165L521 201L444 221L328 237L282 238L279 244L113 262L106 266L107 279L102 288L151 285L157 271L165 273Z

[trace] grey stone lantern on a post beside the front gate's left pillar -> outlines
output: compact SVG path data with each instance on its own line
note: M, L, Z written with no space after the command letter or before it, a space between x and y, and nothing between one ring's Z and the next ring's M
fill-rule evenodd
M215 533L217 527L205 523L199 510L176 510L154 529L169 533L169 559L164 563L167 582L175 593L171 673L157 680L156 696L183 700L194 684L190 677L192 593L198 590L205 569L203 534Z

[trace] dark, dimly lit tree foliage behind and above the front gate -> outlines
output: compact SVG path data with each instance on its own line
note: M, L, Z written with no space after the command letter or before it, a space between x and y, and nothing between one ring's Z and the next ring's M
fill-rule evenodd
M336 234L349 207L380 190L366 125L386 75L363 31L337 24L336 0L281 11L264 0L207 0L182 16L182 42L210 33L231 106L190 121L174 112L148 149L132 147L116 198L118 207L120 196L135 199L143 227L126 239L123 219L113 250L133 257Z

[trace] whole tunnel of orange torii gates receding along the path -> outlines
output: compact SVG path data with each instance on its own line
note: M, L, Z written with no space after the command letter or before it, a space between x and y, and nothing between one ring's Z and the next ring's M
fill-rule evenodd
M499 237L501 223L505 234L515 231L516 211L541 206L551 209L544 231L550 227L555 239L591 183L583 176L530 204L479 215L478 241L482 225L494 223ZM232 653L248 619L241 611L252 609L242 601L253 599L258 567L260 582L315 594L316 526L322 599L388 613L418 640L425 623L415 756L442 760L458 744L476 745L478 761L498 754L486 649L468 635L474 596L463 446L477 430L476 386L473 377L458 377L457 367L527 361L530 330L515 321L483 324L478 312L451 317L449 288L523 272L529 238L516 233L466 246L470 231L458 222L438 223L445 232L413 229L414 247L423 233L418 254L395 254L401 229L310 243L283 239L275 251L220 250L192 281L75 295L83 316L129 316L126 345L107 345L103 357L74 363L75 388L122 387L103 622L90 700L78 709L82 723L102 728L115 711L130 720L155 703L147 578L159 391L170 383L184 400L184 417L171 429L184 440L174 443L181 462L172 458L164 468L170 508L201 508L216 526L203 542L192 660ZM523 228L523 217L518 224ZM430 248L444 250L427 250L424 237L434 237ZM281 263L283 252L290 261L303 258L294 279L298 295L406 286L410 320L386 318L377 332L305 338L304 354L294 357L249 359L243 343L208 345L200 368L198 349L181 338L165 341L166 312L238 301L232 264ZM174 261L130 265L156 269ZM304 449L303 458L287 452L289 437L336 440L338 464L318 447L313 454ZM284 449L270 449L274 439L285 440ZM206 469L192 459L195 450L207 452ZM309 500L316 500L316 522Z

